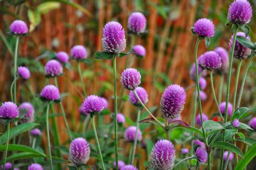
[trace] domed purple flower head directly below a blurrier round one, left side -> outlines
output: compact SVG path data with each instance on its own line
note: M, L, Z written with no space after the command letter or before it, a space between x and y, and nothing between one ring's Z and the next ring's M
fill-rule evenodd
M59 99L59 89L53 85L47 85L41 91L41 97L49 101L54 101Z

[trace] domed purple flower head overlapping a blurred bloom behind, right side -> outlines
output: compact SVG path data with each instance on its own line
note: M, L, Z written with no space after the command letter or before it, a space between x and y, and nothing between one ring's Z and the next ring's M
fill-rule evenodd
M205 69L213 70L221 67L221 58L214 51L205 52L198 61L199 65Z

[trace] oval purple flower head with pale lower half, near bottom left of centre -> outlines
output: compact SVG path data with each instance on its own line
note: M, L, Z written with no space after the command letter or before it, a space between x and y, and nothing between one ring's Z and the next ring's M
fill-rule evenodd
M75 166L86 164L90 152L90 145L84 138L73 139L69 147L69 161Z

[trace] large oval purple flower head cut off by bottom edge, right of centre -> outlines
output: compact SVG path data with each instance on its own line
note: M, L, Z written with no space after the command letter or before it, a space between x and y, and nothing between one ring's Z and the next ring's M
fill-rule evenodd
M176 158L174 145L169 140L158 140L154 144L150 165L154 169L172 169Z

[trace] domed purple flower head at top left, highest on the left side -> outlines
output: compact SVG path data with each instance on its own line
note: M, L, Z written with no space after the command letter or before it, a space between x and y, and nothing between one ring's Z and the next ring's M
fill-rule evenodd
M17 35L26 34L29 32L28 26L23 20L15 20L10 25L10 30L12 33Z

